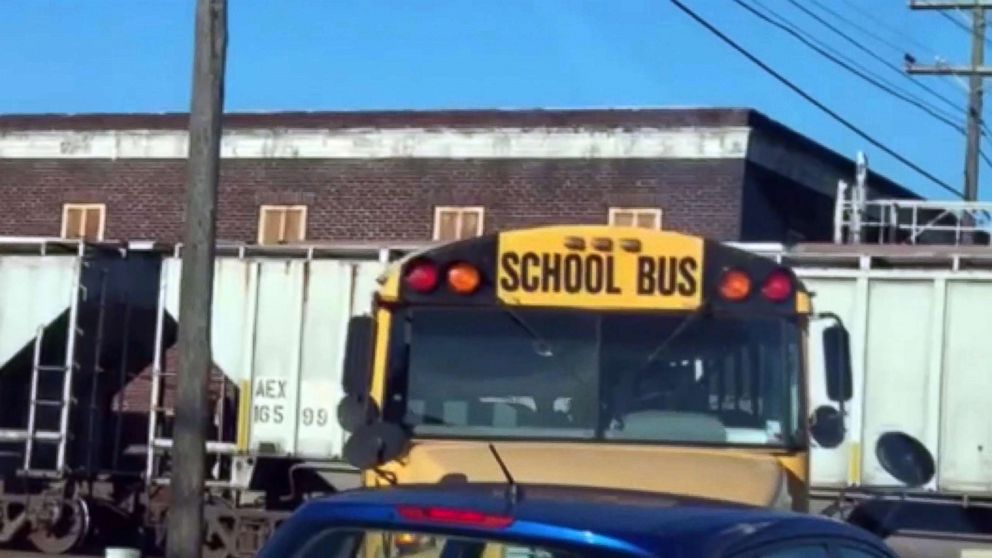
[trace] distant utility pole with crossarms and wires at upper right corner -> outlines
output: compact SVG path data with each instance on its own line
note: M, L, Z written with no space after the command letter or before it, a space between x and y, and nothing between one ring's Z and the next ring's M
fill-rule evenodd
M984 78L992 75L992 68L985 66L985 10L992 8L987 0L919 1L910 0L914 10L970 10L971 11L971 65L970 66L920 66L910 62L906 71L919 75L968 76L968 131L964 164L964 199L978 200L978 156L981 148L982 96Z

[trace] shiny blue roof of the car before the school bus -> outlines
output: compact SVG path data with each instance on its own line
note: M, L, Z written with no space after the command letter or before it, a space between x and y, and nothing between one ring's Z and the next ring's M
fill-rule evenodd
M383 514L382 510L399 506L471 510L510 515L515 525L528 525L527 533L540 534L546 544L553 544L558 537L562 544L577 543L578 540L568 540L567 533L584 533L587 541L592 540L589 535L595 535L610 542L615 550L650 554L679 549L704 555L715 547L729 549L804 536L843 537L876 548L879 545L878 539L860 529L815 515L638 491L553 485L526 485L519 489L520 496L512 505L507 486L499 484L357 489L312 501L294 519L310 524L347 523L349 514L377 509L375 517L381 526L410 527L412 524L398 514ZM367 524L368 517L363 517ZM507 534L517 535L513 529L509 527ZM494 534L452 526L452 534L456 531L464 535Z

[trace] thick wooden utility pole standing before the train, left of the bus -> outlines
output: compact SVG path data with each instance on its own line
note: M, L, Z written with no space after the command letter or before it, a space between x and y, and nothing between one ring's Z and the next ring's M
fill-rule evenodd
M168 558L200 558L203 551L210 312L226 58L227 0L197 0Z

